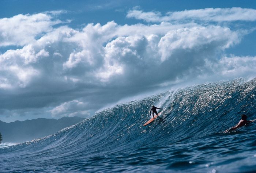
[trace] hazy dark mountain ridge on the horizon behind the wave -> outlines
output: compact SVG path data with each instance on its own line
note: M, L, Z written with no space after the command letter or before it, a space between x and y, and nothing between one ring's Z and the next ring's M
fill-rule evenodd
M21 143L42 138L54 134L65 127L72 126L83 119L80 117L63 117L58 120L38 118L12 123L0 121L0 132L3 137L2 142Z

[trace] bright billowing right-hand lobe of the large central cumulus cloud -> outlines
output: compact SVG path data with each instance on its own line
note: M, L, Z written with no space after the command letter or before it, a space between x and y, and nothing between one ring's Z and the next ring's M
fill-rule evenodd
M191 27L171 30L158 43L161 60L171 57L177 50L204 51L214 46L224 50L239 42L238 34L229 28L219 26ZM199 57L198 57L199 58Z

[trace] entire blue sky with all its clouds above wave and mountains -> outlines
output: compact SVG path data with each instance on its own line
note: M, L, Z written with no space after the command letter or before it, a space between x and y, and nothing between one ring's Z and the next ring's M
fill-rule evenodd
M256 75L256 3L0 1L0 120L90 117L186 82Z

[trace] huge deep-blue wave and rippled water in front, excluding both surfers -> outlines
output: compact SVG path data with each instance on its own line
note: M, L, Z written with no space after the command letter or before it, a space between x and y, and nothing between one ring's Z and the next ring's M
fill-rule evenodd
M256 80L208 83L116 105L54 135L0 148L0 172L255 172ZM152 105L163 108L150 119ZM11 165L11 166L10 166Z

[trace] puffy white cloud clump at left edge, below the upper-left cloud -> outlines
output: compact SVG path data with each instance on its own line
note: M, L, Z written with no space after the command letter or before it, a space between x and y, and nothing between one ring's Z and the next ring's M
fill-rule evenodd
M31 45L0 54L0 78L5 79L0 88L27 86L33 77L40 74L40 70L33 67L33 64L37 63L39 58L48 56L49 53L44 49L35 50Z

